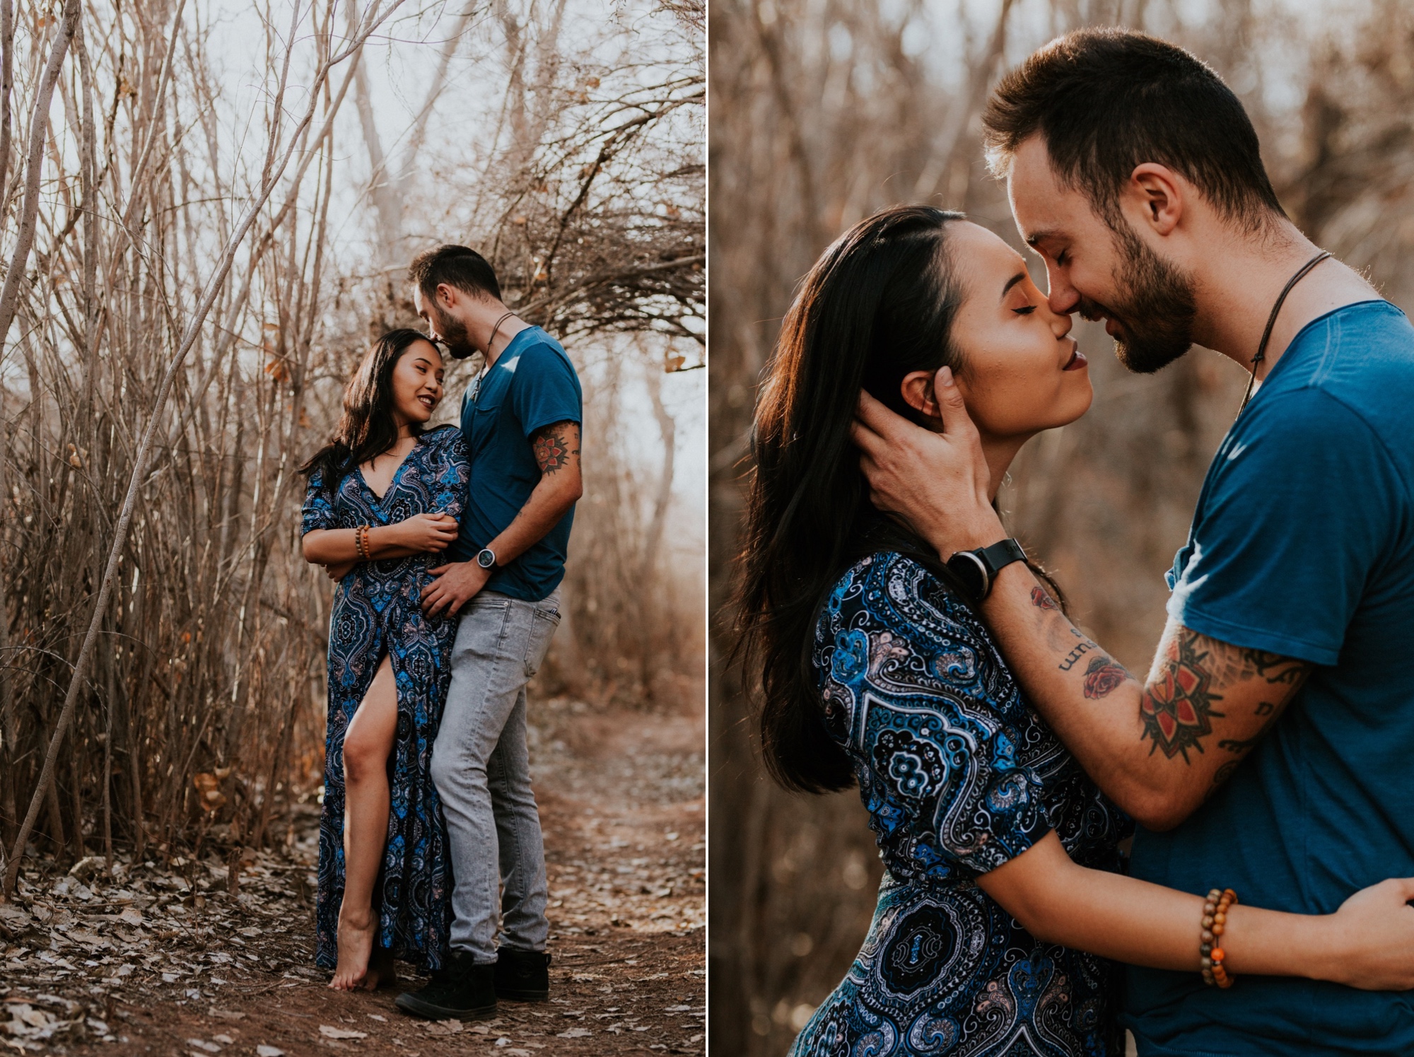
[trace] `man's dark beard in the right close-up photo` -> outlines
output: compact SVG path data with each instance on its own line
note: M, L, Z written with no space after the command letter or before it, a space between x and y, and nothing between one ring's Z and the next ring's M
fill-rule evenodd
M1123 223L1123 220L1121 220ZM1116 237L1124 257L1116 276L1114 307L1080 298L1076 311L1085 319L1107 318L1116 325L1114 355L1130 370L1152 374L1193 345L1193 281L1145 246L1128 230Z

